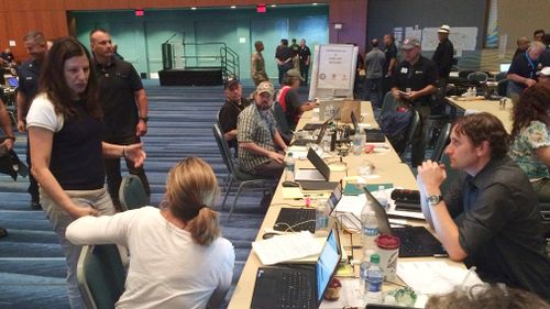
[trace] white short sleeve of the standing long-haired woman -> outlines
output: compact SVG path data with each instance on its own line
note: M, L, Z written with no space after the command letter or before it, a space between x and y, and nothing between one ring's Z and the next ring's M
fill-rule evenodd
M46 93L42 92L37 95L26 114L26 128L40 126L52 132L59 132L63 123L63 114L55 113L54 104L50 101Z

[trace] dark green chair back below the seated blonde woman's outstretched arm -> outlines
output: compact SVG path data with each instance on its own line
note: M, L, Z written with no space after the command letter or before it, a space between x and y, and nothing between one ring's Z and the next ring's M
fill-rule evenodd
M124 291L127 278L117 245L84 245L76 278L86 308L114 308Z

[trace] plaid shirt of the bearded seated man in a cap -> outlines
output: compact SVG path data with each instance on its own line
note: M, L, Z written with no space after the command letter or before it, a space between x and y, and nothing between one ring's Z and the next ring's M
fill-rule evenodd
M274 152L276 148L273 134L277 131L276 123L271 109L262 113L256 104L252 103L239 114L237 140L239 142L252 142L262 148ZM254 174L254 168L266 162L270 162L268 157L253 154L239 146L239 163L241 168L248 173Z

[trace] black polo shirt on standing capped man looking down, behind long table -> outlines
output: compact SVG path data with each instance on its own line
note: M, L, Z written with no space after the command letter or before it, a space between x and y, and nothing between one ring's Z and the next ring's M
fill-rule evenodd
M436 86L438 80L438 68L432 60L420 56L415 65L410 65L405 60L397 64L392 76L393 87L397 87L402 91L407 91L407 88L410 88L413 91L418 91L426 88L428 85ZM415 102L429 104L430 97L431 95L420 97L416 99Z

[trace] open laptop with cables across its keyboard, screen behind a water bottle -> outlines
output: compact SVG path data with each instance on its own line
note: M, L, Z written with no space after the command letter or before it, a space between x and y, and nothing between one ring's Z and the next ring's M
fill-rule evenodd
M342 198L342 181L330 194L327 200L327 216L330 216L334 207ZM283 232L309 231L315 233L316 209L315 208L282 208L273 229Z

